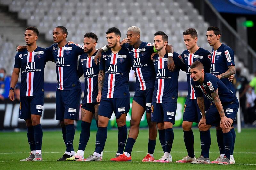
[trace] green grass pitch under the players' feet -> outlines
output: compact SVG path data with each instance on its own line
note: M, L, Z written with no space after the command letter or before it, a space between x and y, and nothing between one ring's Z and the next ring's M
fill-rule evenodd
M74 148L77 151L80 131L76 131ZM93 153L95 148L96 131L91 136L85 149L84 157ZM200 135L194 128L195 155L200 154ZM196 165L178 163L153 163L141 162L146 156L148 148L148 129L140 129L139 137L132 151L132 162L110 162L117 151L117 130L109 130L102 162L76 162L56 161L65 151L61 131L44 131L42 146L42 162L20 162L20 159L29 155L29 145L26 132L1 132L0 133L0 169L256 169L256 130L253 128L242 129L242 133L236 133L234 158L236 165ZM216 130L211 128L210 160L219 155L216 141ZM174 128L174 142L172 146L173 162L187 155L183 141L181 128ZM162 148L157 138L154 158L159 159L163 155Z

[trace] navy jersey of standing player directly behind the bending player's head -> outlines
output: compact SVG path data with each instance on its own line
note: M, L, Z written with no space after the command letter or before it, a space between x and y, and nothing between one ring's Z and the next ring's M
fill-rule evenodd
M187 83L188 83L188 99L196 99L193 91L193 87L190 83L190 66L194 61L200 61L204 65L204 72L210 73L211 68L211 53L203 48L199 48L194 54L190 54L188 50L182 52L181 57L183 58L186 65Z

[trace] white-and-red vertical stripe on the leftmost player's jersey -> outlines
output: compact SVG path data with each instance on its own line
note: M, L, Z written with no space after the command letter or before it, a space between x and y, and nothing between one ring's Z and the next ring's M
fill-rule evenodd
M35 51L31 52L31 60L30 60L30 52L27 52L27 64L31 69L35 69ZM31 61L31 62L30 62ZM26 90L26 96L33 96L33 87L34 87L34 72L28 72L26 77L26 83L27 83L27 90Z

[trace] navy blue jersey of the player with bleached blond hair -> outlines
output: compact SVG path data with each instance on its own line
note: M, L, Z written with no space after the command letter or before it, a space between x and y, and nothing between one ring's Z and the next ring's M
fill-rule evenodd
M130 54L133 68L136 72L136 90L154 88L156 74L151 61L154 52L154 43L141 42L139 48L134 49L132 45L123 45Z

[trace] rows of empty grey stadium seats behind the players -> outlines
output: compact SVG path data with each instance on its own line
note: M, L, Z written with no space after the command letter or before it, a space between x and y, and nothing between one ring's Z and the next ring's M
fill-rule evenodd
M211 50L205 37L209 24L188 0L1 0L0 3L17 12L20 19L26 19L27 25L36 26L50 42L53 28L63 25L68 29L68 41L80 44L84 33L95 32L99 48L106 44L105 31L109 27L119 28L122 39L126 37L127 28L135 25L141 29L141 39L147 42L153 42L156 31L165 31L170 37L169 43L181 53L185 49L182 32L193 27L198 32L198 45ZM6 56L3 50L1 56ZM6 60L8 66L12 66L13 59L9 59L2 57L0 61ZM45 81L55 81L52 79L56 76L54 65L47 65L46 72L50 76ZM243 73L247 74L248 70L243 69ZM179 81L186 81L184 72L180 72Z

